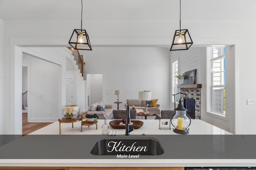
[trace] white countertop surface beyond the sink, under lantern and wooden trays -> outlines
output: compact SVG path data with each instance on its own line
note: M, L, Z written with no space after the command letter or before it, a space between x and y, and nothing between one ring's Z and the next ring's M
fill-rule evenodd
M109 122L112 120L108 120ZM140 129L135 129L130 134L131 135L176 135L172 130L160 130L159 129L159 119L142 119L143 126ZM95 125L93 126L83 126L83 131L81 132L81 121L74 123L74 128L72 128L71 123L61 123L62 135L101 135L102 125L104 123L103 119L98 120L98 130L96 130ZM192 119L191 124L188 127L190 130L190 135L229 135L231 133L224 131L216 126L210 125L199 119ZM124 135L125 129L113 129L109 126L109 131L118 130L118 135ZM59 134L59 122L54 122L46 127L43 127L37 131L30 133L30 135L56 135Z

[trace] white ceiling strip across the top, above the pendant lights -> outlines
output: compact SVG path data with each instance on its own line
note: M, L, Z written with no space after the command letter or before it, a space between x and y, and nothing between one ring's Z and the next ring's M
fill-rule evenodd
M256 0L181 0L182 20L256 19ZM81 0L0 0L3 20L80 20ZM83 20L178 20L179 0L83 0Z

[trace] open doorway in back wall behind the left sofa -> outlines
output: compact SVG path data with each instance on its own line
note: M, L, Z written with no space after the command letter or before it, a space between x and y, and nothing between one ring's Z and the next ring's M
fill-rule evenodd
M88 108L91 104L104 100L103 73L87 72L86 85Z

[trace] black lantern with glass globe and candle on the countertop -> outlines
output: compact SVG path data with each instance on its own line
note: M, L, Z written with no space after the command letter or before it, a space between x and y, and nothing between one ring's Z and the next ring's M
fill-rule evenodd
M180 93L177 93L177 94L180 94ZM173 94L174 98L177 94ZM187 95L186 94L184 95L187 98ZM174 102L174 107L176 107L175 102ZM190 116L187 114L187 109L184 108L181 99L179 100L178 107L175 108L174 110L175 110L175 114L171 118L171 123L175 127L173 131L175 133L182 134L182 135L189 134L188 127L191 123L191 119L190 119Z

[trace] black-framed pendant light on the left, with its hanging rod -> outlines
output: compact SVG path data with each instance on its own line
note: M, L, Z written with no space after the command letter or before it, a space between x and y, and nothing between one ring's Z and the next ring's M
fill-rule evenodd
M74 29L68 43L76 50L92 50L88 33L85 29L82 29L83 0L81 0L81 3L81 29Z

